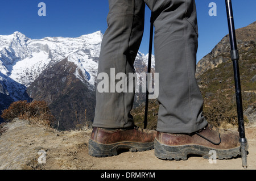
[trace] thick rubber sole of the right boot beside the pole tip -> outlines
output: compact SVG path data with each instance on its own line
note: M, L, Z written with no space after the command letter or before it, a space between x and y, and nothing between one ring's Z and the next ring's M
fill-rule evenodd
M229 159L241 155L240 146L233 149L213 149L202 145L182 145L168 146L160 144L155 138L155 156L160 159L187 160L189 154L201 155L205 159L209 159L213 154L210 150L216 151L217 159Z

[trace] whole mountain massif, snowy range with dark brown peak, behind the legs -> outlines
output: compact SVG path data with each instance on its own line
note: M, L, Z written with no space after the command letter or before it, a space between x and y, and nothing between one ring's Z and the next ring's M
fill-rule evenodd
M95 86L102 33L80 37L45 37L34 40L20 32L0 35L0 71L15 84L15 92L28 92L34 100L45 100L56 120L61 117L60 129L73 129L77 124L91 121L95 107ZM146 71L147 55L138 52L134 67L137 73ZM154 71L154 57L152 57ZM14 83L12 83L14 82ZM20 86L18 86L20 85ZM3 90L4 88L0 89ZM14 100L23 100L18 92L2 96L2 109ZM19 97L12 97L19 95ZM28 96L28 98L29 98ZM26 98L27 99L27 98ZM144 101L144 93L135 96L135 106ZM61 111L63 110L63 111Z

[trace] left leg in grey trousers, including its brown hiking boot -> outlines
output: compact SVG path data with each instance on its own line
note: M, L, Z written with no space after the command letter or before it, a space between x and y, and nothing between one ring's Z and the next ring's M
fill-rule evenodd
M144 1L109 0L109 9L108 29L101 44L98 74L106 73L110 77L110 70L115 70L115 74L125 73L129 77L129 73L135 73L133 64L143 35ZM101 92L98 90L101 88L98 87L100 81L97 81L96 110L94 128L89 140L89 154L93 157L106 157L117 155L119 149L153 149L156 132L134 127L130 111L135 91ZM112 83L115 86L116 82L108 82L110 86Z

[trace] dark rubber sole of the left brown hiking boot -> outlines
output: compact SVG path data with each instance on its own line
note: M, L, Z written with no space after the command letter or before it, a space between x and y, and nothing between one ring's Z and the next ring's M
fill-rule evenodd
M117 142L114 144L99 144L93 140L89 140L88 153L92 157L112 157L118 155L121 150L129 150L131 152L146 151L154 149L154 142Z

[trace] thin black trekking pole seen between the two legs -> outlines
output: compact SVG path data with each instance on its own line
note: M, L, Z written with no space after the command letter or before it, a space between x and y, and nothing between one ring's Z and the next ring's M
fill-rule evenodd
M150 43L148 48L148 64L147 64L147 73L151 71L151 56L152 56L152 42L153 42L153 30L154 30L154 21L151 11L150 16ZM145 102L145 115L144 115L144 129L147 128L147 112L148 112L148 79L146 75L146 102Z

